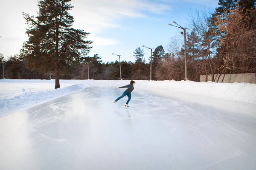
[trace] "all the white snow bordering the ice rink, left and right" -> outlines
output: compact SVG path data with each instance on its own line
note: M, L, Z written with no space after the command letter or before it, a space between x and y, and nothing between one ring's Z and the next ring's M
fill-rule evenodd
M228 99L256 104L256 84L250 83L215 83L166 80L135 80L137 91L150 91L166 96L187 96L200 99L200 96ZM91 87L113 87L127 85L129 80L60 80L61 88L54 89L55 80L0 80L0 116L17 109L25 109L47 102L51 99ZM196 95L195 95L196 94ZM185 97L184 97L185 98ZM187 97L186 97L187 98ZM201 99L202 100L202 99ZM211 100L211 99L208 99Z

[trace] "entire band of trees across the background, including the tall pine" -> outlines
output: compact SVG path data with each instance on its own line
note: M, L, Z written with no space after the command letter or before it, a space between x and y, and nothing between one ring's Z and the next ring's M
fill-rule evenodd
M11 55L5 61L5 78L49 79L51 71L52 78L88 79L90 65L90 79L120 79L119 61L105 63L98 54L93 57L87 56L92 48L89 46L92 41L84 41L84 38L89 33L71 28L73 17L68 13L63 14L67 18L67 23L60 24L63 28L59 29L59 37L56 36L57 17L52 16L52 23L49 25L42 24L46 20L46 8L43 6L45 7L44 3L48 1L40 1L41 17L38 17L38 20L42 20L41 23L24 14L24 18L31 24L27 31L30 35L29 41L24 43L20 54ZM57 5L58 2L70 2L55 1ZM219 0L218 5L213 13L198 10L190 16L186 36L189 80L200 81L200 75L212 75L209 81L222 82L220 76L214 75L256 73L255 0ZM70 8L72 6L67 5L64 9ZM56 40L59 42L58 47L54 46ZM167 52L162 45L154 48L152 80L183 80L183 36L172 37L166 49ZM144 58L144 51L140 47L133 53L134 62L121 62L122 78L149 80L150 58ZM2 61L0 65L2 73Z

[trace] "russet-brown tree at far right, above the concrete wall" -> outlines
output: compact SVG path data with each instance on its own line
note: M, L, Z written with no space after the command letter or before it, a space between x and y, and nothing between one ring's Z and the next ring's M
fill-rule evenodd
M234 74L256 71L256 9L244 11L241 1L229 14L226 12L226 20L217 17L218 29L226 33L221 40L222 67Z

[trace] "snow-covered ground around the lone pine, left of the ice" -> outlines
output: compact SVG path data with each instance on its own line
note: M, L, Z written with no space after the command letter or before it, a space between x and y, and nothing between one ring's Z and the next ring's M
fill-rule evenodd
M64 83L63 88L54 89L54 85L52 80L0 81L0 117L86 88L83 84Z

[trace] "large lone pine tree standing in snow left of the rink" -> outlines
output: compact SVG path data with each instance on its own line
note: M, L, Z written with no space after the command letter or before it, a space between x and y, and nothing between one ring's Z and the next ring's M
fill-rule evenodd
M74 18L68 11L71 0L40 0L37 17L23 12L29 40L24 42L20 54L28 62L26 67L40 72L55 72L55 88L60 87L59 71L72 62L79 63L92 47L84 40L90 33L74 29Z

